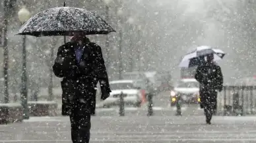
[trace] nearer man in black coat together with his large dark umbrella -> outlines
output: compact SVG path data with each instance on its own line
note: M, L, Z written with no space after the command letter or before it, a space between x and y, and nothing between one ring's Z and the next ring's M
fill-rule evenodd
M86 9L55 7L32 16L20 28L18 35L64 36L64 45L57 51L54 74L61 81L62 115L71 120L73 143L90 140L90 115L95 114L96 84L100 82L102 100L110 96L108 74L102 49L86 35L109 34L113 28L100 16ZM65 42L65 36L73 36Z

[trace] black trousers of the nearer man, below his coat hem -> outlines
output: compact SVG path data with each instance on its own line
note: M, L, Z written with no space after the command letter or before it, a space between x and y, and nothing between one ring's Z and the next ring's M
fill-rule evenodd
M73 143L88 143L90 140L90 111L84 103L77 103L71 109L71 139Z

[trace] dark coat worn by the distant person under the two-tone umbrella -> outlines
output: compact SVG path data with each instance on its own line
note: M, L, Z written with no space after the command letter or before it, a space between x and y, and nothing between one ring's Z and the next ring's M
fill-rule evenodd
M222 91L223 87L223 76L220 67L214 63L205 63L197 67L195 79L200 83L201 107L207 101L210 101L214 103L216 109L217 91Z

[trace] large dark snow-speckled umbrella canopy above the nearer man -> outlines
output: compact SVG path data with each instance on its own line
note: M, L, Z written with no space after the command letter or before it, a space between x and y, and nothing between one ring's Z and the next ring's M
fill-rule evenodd
M100 16L86 9L55 7L32 16L17 35L73 36L72 32L109 34L113 28Z

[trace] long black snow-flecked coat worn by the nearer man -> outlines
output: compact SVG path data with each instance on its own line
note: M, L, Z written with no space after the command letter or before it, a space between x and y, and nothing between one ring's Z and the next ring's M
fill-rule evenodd
M54 74L63 78L61 81L62 115L70 115L77 103L84 103L91 114L96 107L96 84L100 82L102 93L110 93L108 74L102 57L102 49L96 43L84 39L84 51L80 62L77 61L74 47L76 42L61 45L53 65ZM103 96L109 94L102 94ZM102 97L106 99L108 97Z

